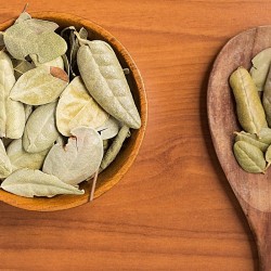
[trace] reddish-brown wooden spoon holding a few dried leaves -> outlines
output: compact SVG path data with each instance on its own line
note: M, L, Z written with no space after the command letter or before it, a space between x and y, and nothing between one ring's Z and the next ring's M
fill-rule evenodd
M260 26L232 38L219 53L208 85L208 119L223 171L256 236L261 270L271 270L271 169L266 175L245 172L233 155L234 131L241 131L229 77L238 66L271 47L271 26Z

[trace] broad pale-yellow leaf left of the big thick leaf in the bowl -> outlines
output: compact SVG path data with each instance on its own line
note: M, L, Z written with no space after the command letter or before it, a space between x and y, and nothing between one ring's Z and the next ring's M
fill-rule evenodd
M108 114L91 98L79 76L63 91L56 107L56 126L66 137L80 126L98 128L107 118Z

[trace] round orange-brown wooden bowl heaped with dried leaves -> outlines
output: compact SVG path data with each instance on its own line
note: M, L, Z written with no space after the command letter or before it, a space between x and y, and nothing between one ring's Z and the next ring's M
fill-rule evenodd
M98 183L95 188L94 198L101 196L103 193L108 191L114 186L131 167L133 160L136 159L140 145L142 143L147 117L147 105L146 105L146 94L144 85L136 63L124 48L124 46L108 31L103 29L101 26L69 14L55 13L55 12L33 12L30 14L33 17L53 21L60 25L61 28L67 26L75 26L77 29L85 27L90 39L100 39L108 42L122 67L128 67L130 74L127 75L127 79L136 101L137 107L141 115L142 126L139 130L131 130L131 137L127 139L126 144L122 150L114 160L114 163L105 169L101 175L99 175ZM9 26L14 23L14 18L0 24L0 30L5 30ZM81 196L74 195L59 195L52 198L34 197L26 198L10 194L5 191L0 190L0 201L28 210L39 210L39 211L51 211L51 210L63 210L72 207L76 207L88 203L90 201L90 189L92 182L83 182L80 186L85 189L85 194Z

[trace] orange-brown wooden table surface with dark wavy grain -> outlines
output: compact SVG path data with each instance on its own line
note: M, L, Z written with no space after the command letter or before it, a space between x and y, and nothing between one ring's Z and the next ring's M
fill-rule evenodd
M245 216L218 163L206 94L222 46L271 24L269 1L29 0L91 20L142 73L149 124L139 156L91 204L34 212L0 203L3 270L258 270ZM241 3L242 2L242 3ZM24 3L1 1L0 22Z

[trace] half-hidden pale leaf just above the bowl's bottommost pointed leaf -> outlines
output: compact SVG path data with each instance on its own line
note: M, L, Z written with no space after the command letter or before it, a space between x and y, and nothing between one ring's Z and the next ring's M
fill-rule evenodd
M13 140L7 149L12 171L20 168L40 169L50 149L39 153L27 153L23 149L22 139Z

